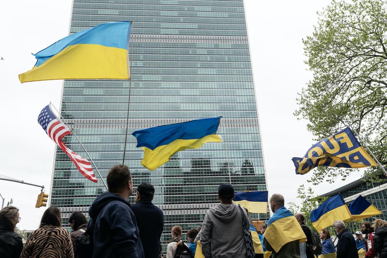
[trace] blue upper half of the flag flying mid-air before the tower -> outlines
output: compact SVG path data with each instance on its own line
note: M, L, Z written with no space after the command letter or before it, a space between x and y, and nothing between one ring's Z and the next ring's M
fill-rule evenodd
M154 150L159 146L167 145L174 140L200 139L207 135L215 134L220 123L221 116L203 118L184 123L162 125L132 133L137 138L136 147L146 147Z

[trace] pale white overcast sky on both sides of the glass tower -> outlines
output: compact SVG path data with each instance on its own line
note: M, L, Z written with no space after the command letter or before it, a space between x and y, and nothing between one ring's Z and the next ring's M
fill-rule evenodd
M245 10L258 97L260 129L269 194L282 193L286 203L299 202L296 189L310 174L296 175L292 157L314 144L306 121L293 116L296 97L311 73L303 63L302 38L311 35L318 10L330 1L245 0ZM50 191L55 144L37 123L50 101L59 106L62 80L21 84L18 74L31 69L36 53L68 35L71 1L6 1L0 15L0 174L44 185ZM322 194L360 178L314 186ZM5 205L13 198L20 209L21 229L36 229L44 208L35 208L40 189L0 180ZM1 202L0 202L1 203Z

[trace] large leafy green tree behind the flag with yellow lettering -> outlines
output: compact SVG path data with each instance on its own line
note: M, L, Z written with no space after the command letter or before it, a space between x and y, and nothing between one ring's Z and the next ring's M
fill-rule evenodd
M377 159L387 164L387 1L333 0L318 12L303 39L313 79L299 93L298 119L309 121L314 140L353 124ZM345 180L354 169L318 167L310 181ZM374 174L370 167L366 174ZM378 172L380 173L380 172Z

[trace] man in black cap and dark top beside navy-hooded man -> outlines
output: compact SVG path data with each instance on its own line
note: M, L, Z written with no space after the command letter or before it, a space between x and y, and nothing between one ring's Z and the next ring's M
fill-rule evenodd
M154 187L144 183L137 186L136 203L132 204L140 239L146 258L158 258L161 252L160 237L164 229L164 214L153 205Z

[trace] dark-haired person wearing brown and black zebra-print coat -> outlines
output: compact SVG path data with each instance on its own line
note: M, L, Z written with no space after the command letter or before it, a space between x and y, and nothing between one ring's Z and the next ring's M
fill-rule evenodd
M20 258L74 258L70 233L62 228L60 211L49 207L40 226L28 236Z

